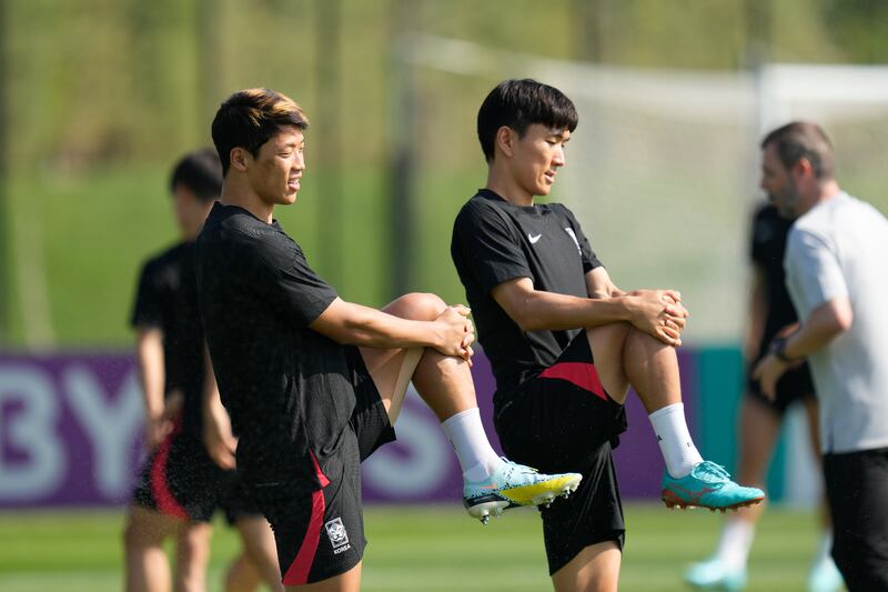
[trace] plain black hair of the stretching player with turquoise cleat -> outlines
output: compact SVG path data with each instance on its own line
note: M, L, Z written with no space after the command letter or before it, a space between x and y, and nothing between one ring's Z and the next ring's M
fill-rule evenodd
M504 80L487 94L478 109L478 141L484 158L494 157L496 131L508 126L524 137L534 123L574 131L579 121L574 103L555 87L536 80Z

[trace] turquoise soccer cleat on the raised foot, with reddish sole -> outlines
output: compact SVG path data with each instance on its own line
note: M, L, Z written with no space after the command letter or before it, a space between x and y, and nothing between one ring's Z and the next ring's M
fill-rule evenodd
M687 474L675 479L663 475L663 501L667 508L708 508L712 511L736 510L765 499L765 492L744 488L730 480L725 468L709 461L697 463Z

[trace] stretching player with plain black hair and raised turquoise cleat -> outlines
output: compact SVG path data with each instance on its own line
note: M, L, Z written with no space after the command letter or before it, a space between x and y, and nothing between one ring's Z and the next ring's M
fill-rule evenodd
M571 211L534 203L565 164L577 120L546 84L491 91L477 118L487 184L457 215L451 252L493 364L504 451L584 475L576 494L543 510L553 583L616 590L625 529L610 446L626 428L629 385L666 461L667 504L724 510L764 494L703 461L690 439L674 349L687 317L679 294L618 290Z

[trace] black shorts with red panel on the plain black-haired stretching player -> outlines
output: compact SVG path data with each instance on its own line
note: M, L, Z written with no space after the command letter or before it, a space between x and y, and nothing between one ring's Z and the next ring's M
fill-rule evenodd
M549 574L588 545L614 541L623 549L623 505L610 451L626 431L626 412L602 387L586 332L552 367L498 399L506 402L494 423L511 460L544 473L583 474L571 498L541 509Z

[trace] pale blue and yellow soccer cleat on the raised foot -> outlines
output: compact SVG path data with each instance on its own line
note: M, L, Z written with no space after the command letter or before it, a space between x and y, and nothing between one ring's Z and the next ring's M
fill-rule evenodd
M579 473L547 475L503 459L487 479L463 482L463 505L472 518L486 524L490 516L502 515L508 508L548 506L558 495L567 498L576 491L582 480Z

